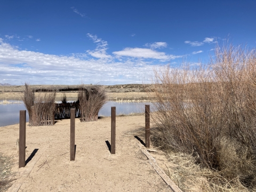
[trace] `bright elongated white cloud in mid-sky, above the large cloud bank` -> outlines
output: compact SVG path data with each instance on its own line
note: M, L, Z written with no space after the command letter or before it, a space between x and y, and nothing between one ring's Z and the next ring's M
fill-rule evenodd
M165 54L164 52L158 52L151 49L144 48L130 48L126 47L122 51L115 51L113 54L117 56L133 57L133 58L145 58L145 59L159 59L159 60L170 60L175 58L180 58L182 56L175 56Z

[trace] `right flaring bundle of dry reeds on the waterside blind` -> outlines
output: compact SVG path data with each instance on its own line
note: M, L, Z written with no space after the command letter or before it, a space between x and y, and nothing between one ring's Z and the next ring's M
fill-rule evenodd
M81 85L78 102L81 122L97 121L99 110L107 102L106 92L98 85L90 87Z

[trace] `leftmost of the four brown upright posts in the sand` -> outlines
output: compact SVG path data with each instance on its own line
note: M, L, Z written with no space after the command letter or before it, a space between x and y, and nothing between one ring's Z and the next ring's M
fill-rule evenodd
M25 167L26 157L26 110L20 110L19 168Z

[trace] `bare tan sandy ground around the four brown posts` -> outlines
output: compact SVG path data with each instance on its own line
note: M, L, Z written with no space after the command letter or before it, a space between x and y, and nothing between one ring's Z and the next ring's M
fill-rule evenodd
M106 141L110 139L110 117L97 122L81 123L76 118L76 156L69 161L70 119L54 126L32 127L27 124L26 159L39 158L19 191L171 191L141 153L145 116L116 117L116 154L111 155ZM16 140L19 124L0 127L0 152L14 157L13 171L18 169ZM138 145L139 144L139 145ZM159 151L152 153L158 165L167 162Z

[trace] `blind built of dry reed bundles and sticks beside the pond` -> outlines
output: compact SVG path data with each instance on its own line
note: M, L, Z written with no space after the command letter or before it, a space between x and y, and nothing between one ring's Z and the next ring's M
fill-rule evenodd
M25 84L22 100L28 110L30 125L54 125L55 117L70 117L70 108L76 109L76 117L80 117L81 122L97 121L100 108L107 102L106 91L98 85L80 85L78 100L72 103L67 102L66 93L63 93L61 103L55 103L57 91L59 90L34 90Z

